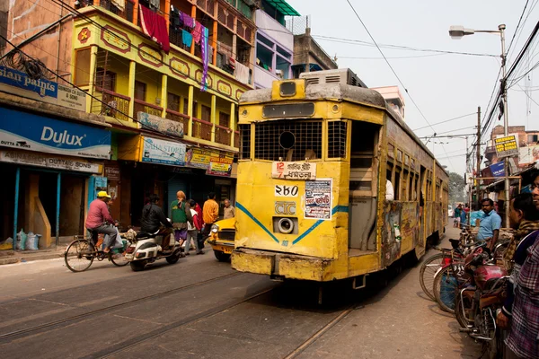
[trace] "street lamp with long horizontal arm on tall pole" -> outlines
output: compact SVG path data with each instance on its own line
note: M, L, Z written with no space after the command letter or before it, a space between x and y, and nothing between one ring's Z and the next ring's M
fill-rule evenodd
M498 33L499 37L501 39L501 72L502 72L502 78L501 78L501 94L502 94L502 100L503 100L503 132L504 136L509 135L509 125L508 125L508 92L507 92L507 86L506 86L506 48L505 48L505 24L500 24L498 26L498 31L496 30L472 30L472 29L465 29L464 26L451 26L449 28L449 36L451 36L452 39L461 39L465 35L473 35L477 32L486 32L486 33ZM479 164L478 164L479 166ZM506 157L504 160L504 167L505 167L505 223L506 226L509 224L509 160ZM479 177L479 173L477 173L477 176ZM477 181L477 194L479 195L479 180ZM479 198L478 198L479 199Z

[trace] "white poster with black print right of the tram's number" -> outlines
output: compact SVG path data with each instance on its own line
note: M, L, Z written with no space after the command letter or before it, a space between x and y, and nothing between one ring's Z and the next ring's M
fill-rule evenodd
M331 179L305 181L305 218L331 219Z

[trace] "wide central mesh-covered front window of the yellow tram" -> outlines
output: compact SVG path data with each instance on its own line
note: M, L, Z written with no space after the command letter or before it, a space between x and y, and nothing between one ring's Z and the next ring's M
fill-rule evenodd
M287 134L285 134L287 133ZM281 145L281 135L287 142ZM290 136L292 134L293 136ZM290 142L290 137L293 140ZM255 124L254 157L258 160L305 161L322 158L322 121L290 120Z

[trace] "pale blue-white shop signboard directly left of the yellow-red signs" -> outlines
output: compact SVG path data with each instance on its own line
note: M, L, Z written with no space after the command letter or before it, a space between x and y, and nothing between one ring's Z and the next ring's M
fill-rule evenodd
M142 162L184 166L185 144L158 138L144 137Z

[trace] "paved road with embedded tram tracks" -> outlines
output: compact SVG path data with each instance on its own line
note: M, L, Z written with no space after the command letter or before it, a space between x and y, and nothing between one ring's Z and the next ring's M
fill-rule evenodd
M419 269L382 290L330 288L319 306L315 285L236 273L211 253L138 273L102 262L75 274L58 259L0 266L0 351L10 358L479 357L455 319L425 299Z

